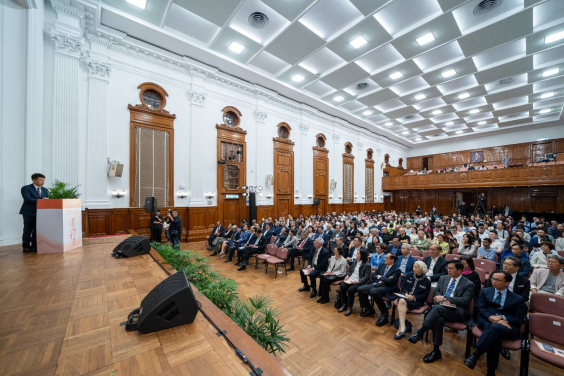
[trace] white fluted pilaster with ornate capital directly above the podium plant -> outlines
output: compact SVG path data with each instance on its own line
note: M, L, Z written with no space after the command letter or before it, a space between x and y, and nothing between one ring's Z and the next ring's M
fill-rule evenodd
M71 185L78 176L78 73L82 38L51 31L55 42L53 83L53 176Z

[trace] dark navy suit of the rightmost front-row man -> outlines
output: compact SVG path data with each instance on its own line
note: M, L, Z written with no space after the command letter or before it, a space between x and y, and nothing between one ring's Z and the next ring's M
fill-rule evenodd
M520 328L527 316L527 306L523 299L509 291L505 297L503 307L494 303L495 291L493 287L484 288L478 300L478 328L482 329L482 335L476 347L488 354L488 369L497 369L499 363L499 351L502 339L521 339ZM489 321L490 316L504 316L511 325L511 329Z

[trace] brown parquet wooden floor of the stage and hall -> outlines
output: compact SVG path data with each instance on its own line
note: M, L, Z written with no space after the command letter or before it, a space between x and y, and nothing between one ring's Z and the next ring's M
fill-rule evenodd
M92 239L66 254L22 254L0 248L0 375L248 375L249 369L198 315L196 322L139 335L120 323L164 271L149 257L109 257L123 238ZM183 244L208 255L204 243ZM212 266L239 283L242 298L269 294L291 339L276 359L294 375L483 375L485 356L474 371L462 363L465 339L445 333L443 359L425 364L432 345L395 341L390 326L373 318L345 317L333 304L300 293L298 272L288 276L264 267L237 272L233 263L210 257ZM333 299L335 293L331 293ZM409 317L418 328L421 318ZM254 344L254 342L253 342ZM246 353L253 361L253 354ZM519 354L500 360L498 375L518 375ZM530 375L556 368L531 358ZM267 373L265 373L266 375Z

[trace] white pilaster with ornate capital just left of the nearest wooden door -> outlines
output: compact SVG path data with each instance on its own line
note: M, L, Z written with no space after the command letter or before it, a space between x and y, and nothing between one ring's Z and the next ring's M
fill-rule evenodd
M108 80L111 67L84 59L88 69L88 120L86 138L86 198L89 208L111 208L108 199Z

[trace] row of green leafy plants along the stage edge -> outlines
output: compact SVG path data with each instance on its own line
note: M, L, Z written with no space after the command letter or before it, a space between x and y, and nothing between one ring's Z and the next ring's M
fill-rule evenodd
M274 355L285 352L289 338L278 319L280 312L272 307L268 295L255 295L243 301L238 296L237 282L213 270L206 257L191 250L179 251L169 244L151 245L166 263L184 271L199 293L204 294L266 351Z

